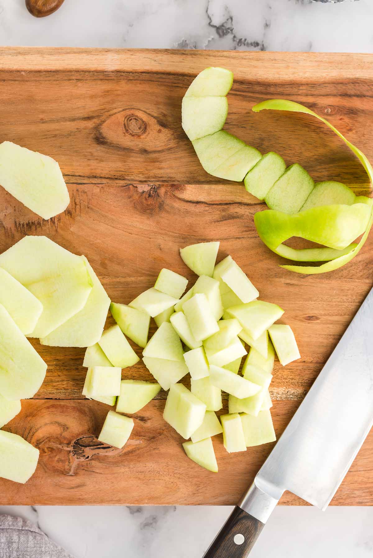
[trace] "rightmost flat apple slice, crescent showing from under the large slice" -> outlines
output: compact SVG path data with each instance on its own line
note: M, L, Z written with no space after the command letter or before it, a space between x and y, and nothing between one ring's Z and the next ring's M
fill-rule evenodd
M42 345L51 347L91 347L101 338L110 299L98 280L86 257L82 256L91 277L93 287L82 310L65 321L46 337Z

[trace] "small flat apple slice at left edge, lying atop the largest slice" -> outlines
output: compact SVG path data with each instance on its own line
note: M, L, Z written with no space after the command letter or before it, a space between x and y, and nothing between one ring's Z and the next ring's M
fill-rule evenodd
M6 270L0 268L0 304L9 312L24 335L35 329L43 304Z

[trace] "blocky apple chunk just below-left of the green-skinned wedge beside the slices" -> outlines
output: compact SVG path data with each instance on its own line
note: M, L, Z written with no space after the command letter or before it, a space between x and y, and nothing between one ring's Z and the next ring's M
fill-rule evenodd
M115 367L127 368L140 360L119 325L112 325L105 330L98 344Z

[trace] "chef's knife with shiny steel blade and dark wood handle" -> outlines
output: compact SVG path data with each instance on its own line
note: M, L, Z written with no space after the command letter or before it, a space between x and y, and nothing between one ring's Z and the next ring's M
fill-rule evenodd
M373 425L373 289L204 558L248 556L285 490L327 508Z

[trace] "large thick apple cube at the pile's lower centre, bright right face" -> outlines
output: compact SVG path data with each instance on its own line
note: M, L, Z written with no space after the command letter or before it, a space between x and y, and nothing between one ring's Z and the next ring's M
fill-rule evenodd
M169 388L163 419L183 438L190 438L204 420L206 405L193 395L183 384L172 384Z

